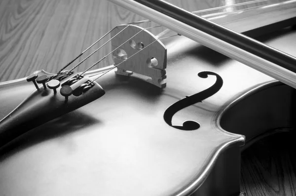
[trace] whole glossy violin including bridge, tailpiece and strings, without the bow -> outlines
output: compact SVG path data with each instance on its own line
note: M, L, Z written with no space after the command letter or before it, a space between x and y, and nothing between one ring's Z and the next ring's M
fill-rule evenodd
M132 9L127 2L116 1ZM295 0L252 6L204 18L248 36L296 23ZM139 26L149 22L111 29L111 51L82 72L75 69L88 56L74 61L84 52L56 74L0 83L1 194L241 194L245 143L294 126L293 77L283 83L294 72L279 81L181 32ZM296 56L293 40L289 31L266 43ZM113 65L91 71L108 55Z

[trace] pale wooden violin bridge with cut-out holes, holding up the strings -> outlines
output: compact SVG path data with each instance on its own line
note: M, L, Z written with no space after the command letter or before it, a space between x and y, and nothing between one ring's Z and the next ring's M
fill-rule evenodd
M129 40L113 52L114 66L120 64L115 74L130 76L137 73L148 77L146 81L149 83L164 88L166 86L164 81L167 65L166 47L142 27L129 25L126 28L126 26L117 26L111 32L112 50ZM118 34L120 31L122 32ZM116 34L118 35L115 36Z

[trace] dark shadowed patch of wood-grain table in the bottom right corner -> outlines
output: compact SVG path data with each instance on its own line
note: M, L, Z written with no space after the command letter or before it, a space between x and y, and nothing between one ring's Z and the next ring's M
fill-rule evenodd
M247 196L295 196L295 133L264 138L242 153L241 189Z

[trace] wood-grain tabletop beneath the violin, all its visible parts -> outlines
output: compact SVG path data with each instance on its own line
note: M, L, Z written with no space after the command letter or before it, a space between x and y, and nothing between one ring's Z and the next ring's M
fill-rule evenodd
M195 11L247 0L168 1ZM144 19L107 0L0 0L0 81L23 78L41 69L56 73L111 28ZM79 66L78 71L109 51L111 45ZM110 56L94 69L111 64ZM271 136L242 154L241 187L247 196L296 195L294 138L292 133Z

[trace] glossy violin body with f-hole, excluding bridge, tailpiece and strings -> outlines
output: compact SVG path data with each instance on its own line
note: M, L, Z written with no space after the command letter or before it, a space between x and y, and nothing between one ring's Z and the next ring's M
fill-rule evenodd
M290 31L267 43L296 55L288 44L293 40ZM108 73L98 81L103 97L1 149L1 193L239 194L240 147L266 131L293 126L295 91L185 37L164 44L166 88ZM25 78L1 83L1 117L34 88ZM167 109L191 95L196 103L179 106L167 123ZM200 126L182 130L186 120Z

